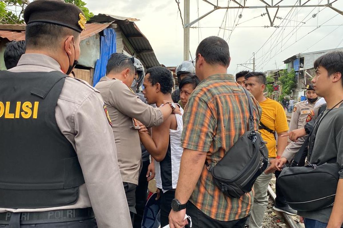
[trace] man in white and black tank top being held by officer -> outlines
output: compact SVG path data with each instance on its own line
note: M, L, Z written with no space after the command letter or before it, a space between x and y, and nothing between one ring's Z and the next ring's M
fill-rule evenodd
M146 71L143 94L149 104L157 107L170 105L173 76L165 67L152 67ZM161 194L161 227L168 225L171 201L175 198L175 189L179 177L181 148L182 114L170 115L160 126L152 128L152 137L140 132L140 139L150 155L155 159L156 187ZM143 127L144 128L144 127Z

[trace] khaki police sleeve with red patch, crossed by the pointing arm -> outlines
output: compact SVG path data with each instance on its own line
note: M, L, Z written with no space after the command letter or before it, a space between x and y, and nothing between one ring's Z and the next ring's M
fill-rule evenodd
M320 105L315 107L313 110L310 111L310 113L306 116L305 120L301 124L299 128L303 128L306 123L311 121L312 119L316 120L318 117L318 111L320 109ZM296 155L296 153L299 151L300 147L304 144L306 140L306 136L300 137L297 139L298 142L292 142L288 144L288 146L285 148L285 150L282 153L282 157L285 157L288 162L291 162Z

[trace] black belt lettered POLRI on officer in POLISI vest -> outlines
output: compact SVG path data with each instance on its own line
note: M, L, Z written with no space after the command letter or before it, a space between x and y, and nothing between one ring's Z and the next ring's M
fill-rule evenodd
M9 224L11 217L20 214L20 224L61 223L94 218L92 207L45 212L0 213L0 224Z

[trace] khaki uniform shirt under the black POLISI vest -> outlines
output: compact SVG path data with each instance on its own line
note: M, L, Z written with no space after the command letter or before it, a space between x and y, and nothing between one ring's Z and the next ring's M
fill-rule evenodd
M42 54L24 54L12 72L61 71L55 59ZM56 106L56 122L74 147L85 184L73 205L9 209L1 212L37 212L93 207L99 228L132 227L125 191L119 173L116 145L99 92L86 82L66 78ZM38 131L39 129L37 129Z

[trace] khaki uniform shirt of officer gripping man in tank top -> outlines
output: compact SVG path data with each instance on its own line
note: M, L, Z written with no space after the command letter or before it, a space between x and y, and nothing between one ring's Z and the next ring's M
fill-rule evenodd
M142 102L122 81L101 78L95 85L100 91L112 121L118 163L123 182L138 185L142 150L136 119L146 127L163 122L162 111Z

